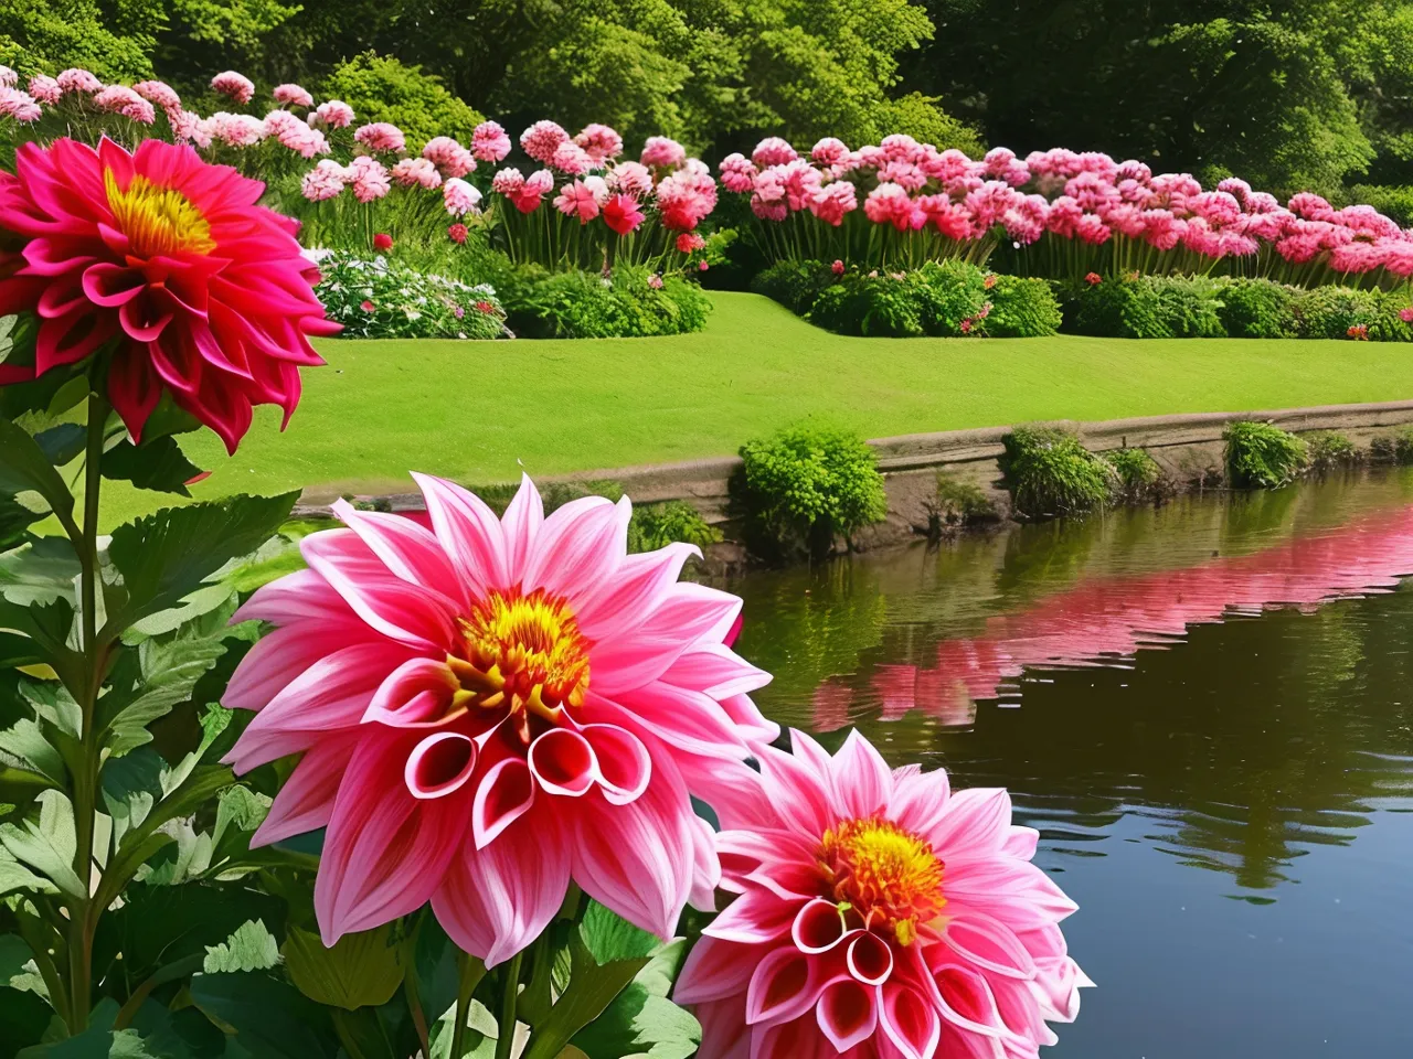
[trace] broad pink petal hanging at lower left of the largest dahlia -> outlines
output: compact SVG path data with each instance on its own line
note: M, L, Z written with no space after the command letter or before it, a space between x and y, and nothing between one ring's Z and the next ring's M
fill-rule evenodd
M415 733L379 727L349 761L314 884L325 945L421 908L462 847L465 788L424 802L403 782L415 741Z

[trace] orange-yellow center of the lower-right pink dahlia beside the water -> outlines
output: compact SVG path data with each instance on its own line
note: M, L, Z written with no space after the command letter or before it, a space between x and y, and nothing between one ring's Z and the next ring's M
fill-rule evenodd
M933 921L942 898L942 861L928 842L889 820L844 820L824 833L820 870L845 912L866 926L886 926L911 945L918 923Z

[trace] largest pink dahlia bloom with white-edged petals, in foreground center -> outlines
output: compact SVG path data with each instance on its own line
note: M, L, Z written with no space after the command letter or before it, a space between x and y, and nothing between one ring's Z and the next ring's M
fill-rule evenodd
M328 827L331 945L431 901L495 964L571 878L670 935L719 878L688 795L776 734L747 698L769 676L723 644L740 600L678 583L690 545L627 555L626 500L545 517L527 479L497 520L414 477L425 525L341 501L348 528L236 614L277 628L226 692L257 710L230 762L304 754L256 842Z

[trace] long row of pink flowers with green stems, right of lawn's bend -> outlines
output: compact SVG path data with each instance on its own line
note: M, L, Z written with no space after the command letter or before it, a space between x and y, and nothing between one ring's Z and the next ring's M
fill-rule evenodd
M1000 247L1006 271L1048 278L1222 271L1395 287L1413 274L1413 233L1369 206L1310 193L1282 205L1245 181L1204 189L1099 152L996 148L974 161L894 134L852 151L824 138L803 155L767 138L721 174L771 260L897 268L982 263Z

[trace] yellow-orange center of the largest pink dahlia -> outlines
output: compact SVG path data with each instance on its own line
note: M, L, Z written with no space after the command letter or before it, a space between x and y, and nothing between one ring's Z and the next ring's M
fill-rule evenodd
M568 603L536 589L492 592L461 618L463 657L447 665L461 682L452 714L507 709L530 741L531 717L557 722L565 706L584 705L589 686L589 641Z

